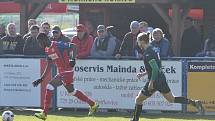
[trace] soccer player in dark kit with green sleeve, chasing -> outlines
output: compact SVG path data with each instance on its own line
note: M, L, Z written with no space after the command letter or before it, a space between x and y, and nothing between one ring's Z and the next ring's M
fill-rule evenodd
M198 109L200 114L203 114L204 108L199 100L191 100L182 96L176 97L172 94L161 69L159 48L149 44L149 35L147 33L140 33L137 36L137 43L140 48L144 49L143 61L146 69L146 72L137 74L137 77L140 79L142 76L148 74L149 80L135 99L135 110L130 121L139 121L143 101L152 96L155 91L159 91L170 103L191 104Z

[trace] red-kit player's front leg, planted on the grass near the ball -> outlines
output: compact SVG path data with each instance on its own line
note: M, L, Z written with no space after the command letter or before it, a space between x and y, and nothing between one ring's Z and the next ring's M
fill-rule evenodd
M35 116L46 120L49 106L51 103L52 93L55 88L62 85L61 79L59 75L57 75L55 78L53 78L46 86L46 93L45 93L45 99L44 99L44 106L43 106L43 112L35 113Z

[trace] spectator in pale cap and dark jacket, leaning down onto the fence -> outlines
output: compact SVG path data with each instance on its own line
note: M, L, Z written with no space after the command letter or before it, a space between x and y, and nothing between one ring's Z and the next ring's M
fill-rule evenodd
M116 58L121 56L135 56L135 47L137 41L137 34L139 33L139 22L132 21L130 24L130 32L128 32L122 41L118 54Z

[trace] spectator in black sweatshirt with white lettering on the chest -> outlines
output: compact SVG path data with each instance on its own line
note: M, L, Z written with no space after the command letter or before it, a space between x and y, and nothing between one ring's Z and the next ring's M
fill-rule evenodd
M7 25L7 35L1 40L3 42L4 54L23 54L24 40L16 33L14 23Z

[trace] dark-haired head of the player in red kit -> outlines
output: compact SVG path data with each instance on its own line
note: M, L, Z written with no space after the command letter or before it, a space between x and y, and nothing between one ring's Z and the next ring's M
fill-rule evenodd
M42 48L50 46L50 40L45 33L39 33L37 35L37 41Z

